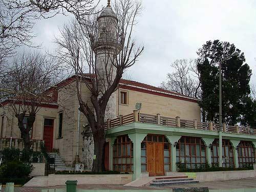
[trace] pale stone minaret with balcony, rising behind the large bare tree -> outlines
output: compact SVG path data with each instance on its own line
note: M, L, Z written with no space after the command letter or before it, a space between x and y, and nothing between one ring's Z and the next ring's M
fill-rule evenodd
M110 6L110 0L108 0L108 6L106 6L106 8L97 17L97 22L98 37L93 45L94 52L96 54L97 71L95 73L97 73L99 78L100 89L104 93L108 86L108 81L111 82L115 79L116 68L113 66L113 58L121 50L120 45L117 42L118 19ZM108 105L106 106L105 120L108 118L116 118L116 104L116 94L113 93L109 99Z

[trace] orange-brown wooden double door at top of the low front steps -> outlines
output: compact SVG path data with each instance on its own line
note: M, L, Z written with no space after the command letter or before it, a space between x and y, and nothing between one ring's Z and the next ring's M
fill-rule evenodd
M163 143L147 142L147 172L150 176L164 175Z

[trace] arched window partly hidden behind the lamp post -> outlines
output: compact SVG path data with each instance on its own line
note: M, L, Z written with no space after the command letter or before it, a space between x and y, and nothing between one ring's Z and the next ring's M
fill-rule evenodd
M215 139L210 147L211 164L219 166L219 139ZM234 167L233 147L227 139L222 139L222 166Z

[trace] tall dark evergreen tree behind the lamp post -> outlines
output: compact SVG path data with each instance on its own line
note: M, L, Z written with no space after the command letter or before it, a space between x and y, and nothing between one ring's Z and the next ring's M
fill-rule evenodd
M244 53L229 42L214 40L207 41L197 52L202 90L199 105L206 112L206 120L218 122L219 63L234 51L239 55L222 62L222 121L248 124L248 118L253 116L250 111L253 101L249 96L251 70L245 63Z

